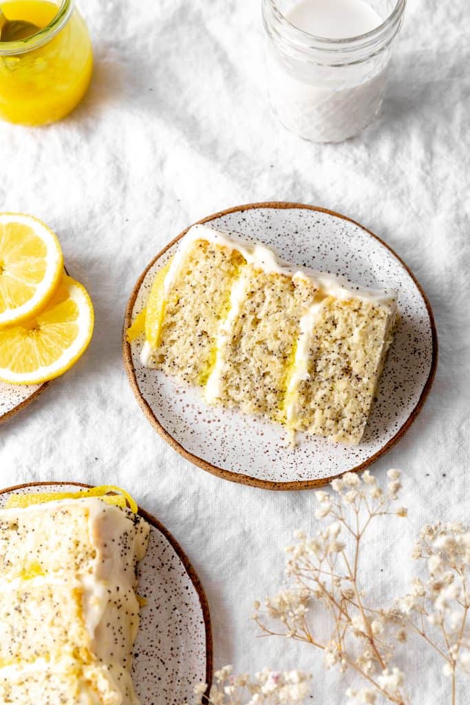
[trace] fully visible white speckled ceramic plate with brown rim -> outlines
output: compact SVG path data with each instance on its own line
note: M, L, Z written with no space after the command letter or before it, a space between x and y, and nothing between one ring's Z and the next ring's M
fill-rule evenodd
M344 446L204 403L197 389L140 363L142 338L125 331L144 308L156 272L174 255L178 235L149 264L130 297L123 355L132 390L159 434L185 458L214 474L266 489L308 489L347 470L361 470L400 439L428 395L438 343L431 306L412 271L380 238L337 213L295 203L240 206L204 219L274 247L288 262L346 276L372 288L398 291L400 323L363 441Z

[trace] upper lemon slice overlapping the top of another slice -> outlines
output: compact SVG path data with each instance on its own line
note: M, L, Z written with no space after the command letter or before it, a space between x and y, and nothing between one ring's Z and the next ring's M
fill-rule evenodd
M0 328L34 316L63 272L56 235L32 216L0 214Z

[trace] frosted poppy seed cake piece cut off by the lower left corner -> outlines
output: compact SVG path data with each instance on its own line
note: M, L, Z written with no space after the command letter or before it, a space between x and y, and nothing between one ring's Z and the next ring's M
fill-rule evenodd
M140 516L94 496L0 510L2 705L139 705L130 668L148 537Z

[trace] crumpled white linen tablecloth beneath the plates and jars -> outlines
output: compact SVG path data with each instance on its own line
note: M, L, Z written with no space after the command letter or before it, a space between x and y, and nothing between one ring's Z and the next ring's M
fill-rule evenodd
M34 214L58 233L70 274L92 296L96 328L74 369L1 427L1 486L124 486L199 573L216 663L311 670L314 701L339 705L345 680L323 675L319 654L256 639L249 621L254 599L281 584L292 530L314 530L313 493L224 482L167 446L125 376L123 311L156 252L218 210L290 200L363 223L413 269L440 341L431 396L373 470L382 478L388 467L404 471L411 521L394 526L410 548L423 522L468 519L470 5L409 0L381 116L359 137L323 146L271 115L257 0L81 0L81 9L96 55L92 87L62 123L0 125L0 210ZM404 593L407 551L391 558L392 530L372 539L366 582ZM414 705L450 702L440 664L415 648L406 661Z

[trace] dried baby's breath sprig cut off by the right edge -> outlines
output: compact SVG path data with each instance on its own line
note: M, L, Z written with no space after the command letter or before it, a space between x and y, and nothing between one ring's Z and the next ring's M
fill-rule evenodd
M426 567L409 594L397 600L405 627L416 632L443 659L443 673L456 698L458 670L470 675L470 532L462 522L423 527L412 557Z

